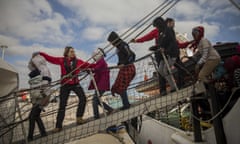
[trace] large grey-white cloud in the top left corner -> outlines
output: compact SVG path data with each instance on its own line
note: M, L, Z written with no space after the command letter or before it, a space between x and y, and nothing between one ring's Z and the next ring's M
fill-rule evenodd
M67 21L46 0L1 1L0 19L0 33L27 41L63 44L73 39L61 30Z

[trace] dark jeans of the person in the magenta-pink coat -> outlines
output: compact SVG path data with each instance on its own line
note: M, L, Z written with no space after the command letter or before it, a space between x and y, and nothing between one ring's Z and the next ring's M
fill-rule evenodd
M104 92L105 91L101 91L101 90L99 91L100 97L103 95ZM95 92L95 95L93 96L93 101L92 101L94 118L99 118L98 105L101 106L99 98L98 98L97 92ZM102 104L103 104L103 108L105 110L107 110L107 111L112 111L113 110L113 108L111 108L105 102L102 102Z

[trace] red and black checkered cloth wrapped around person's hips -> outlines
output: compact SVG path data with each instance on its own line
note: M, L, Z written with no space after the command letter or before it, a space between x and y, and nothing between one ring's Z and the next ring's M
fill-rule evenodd
M112 93L122 94L133 80L135 74L136 69L134 64L120 68L117 79L111 89Z

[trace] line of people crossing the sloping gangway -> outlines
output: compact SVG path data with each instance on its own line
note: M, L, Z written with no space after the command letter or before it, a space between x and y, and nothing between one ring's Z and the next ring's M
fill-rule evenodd
M191 45L194 50L197 49L196 55L200 55L200 59L198 59L195 66L197 80L208 83L208 76L219 65L221 58L211 45L210 41L204 37L204 27L194 27L192 29L193 40L181 43L176 39L174 31L175 22L173 19L167 18L164 20L162 17L157 17L154 19L152 25L154 26L152 31L140 38L132 39L131 42L142 43L155 39L155 46L150 47L149 50L154 51L155 61L158 66L160 95L164 96L169 92L174 92L181 89L184 85L184 76L180 76L184 74L181 69L184 65L179 57L179 49L186 48L188 45ZM80 70L83 69L93 75L93 79L90 82L88 89L95 90L92 100L95 119L100 117L98 105L103 106L103 109L106 110L108 114L114 111L111 106L102 102L100 99L106 91L111 91L113 96L119 95L121 97L123 104L123 107L120 108L121 110L130 108L131 105L128 100L127 88L136 74L135 66L133 64L135 61L135 53L130 49L129 44L121 39L121 37L114 31L109 34L107 40L116 48L118 56L116 67L119 68L119 72L112 87L110 87L110 70L104 59L105 53L101 48L95 51L92 55L92 58L95 61L94 63L88 63L77 58L74 48L71 46L65 47L62 57L50 56L44 52L35 52L32 55L29 62L29 69L31 71L29 74L31 78L29 83L31 86L34 86L36 83L43 85L45 93L39 91L33 91L33 93L31 93L31 97L35 97L35 100L32 99L33 106L29 116L29 140L33 139L35 121L39 126L41 135L47 135L40 118L40 113L42 111L41 107L44 106L42 102L43 100L46 101L46 97L48 98L47 93L49 93L47 92L46 87L51 82L51 75L46 65L46 61L59 65L61 69L60 102L56 118L57 122L55 129L53 130L54 132L59 132L63 128L66 105L71 91L75 92L79 99L76 123L83 124L85 122L83 115L86 107L86 96L78 79L78 74ZM178 67L179 65L180 67ZM178 78L174 78L171 73L171 70L174 67L178 69ZM239 75L239 72L237 74ZM175 80L177 84L175 83ZM170 91L166 90L166 83L170 85Z

